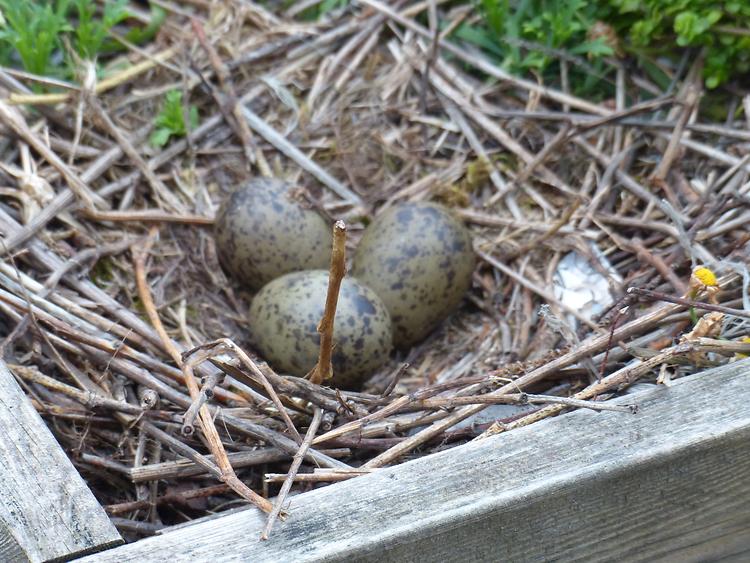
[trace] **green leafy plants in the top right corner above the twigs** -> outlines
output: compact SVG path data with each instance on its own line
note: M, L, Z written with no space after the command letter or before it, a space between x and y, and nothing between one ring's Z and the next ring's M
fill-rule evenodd
M635 55L654 77L657 57L677 59L681 48L704 54L706 85L715 88L750 71L750 2L730 0L474 0L483 18L454 37L474 44L510 71L559 80L560 60L572 63L574 89L601 91L603 56L616 47ZM605 26L611 37L597 37ZM619 44L619 45L618 45ZM669 81L666 76L659 82Z

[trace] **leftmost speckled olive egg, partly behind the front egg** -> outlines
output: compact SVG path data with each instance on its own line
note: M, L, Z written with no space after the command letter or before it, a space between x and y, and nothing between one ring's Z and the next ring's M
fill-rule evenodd
M293 191L281 180L256 178L232 193L216 216L219 261L249 289L289 272L328 267L331 228Z

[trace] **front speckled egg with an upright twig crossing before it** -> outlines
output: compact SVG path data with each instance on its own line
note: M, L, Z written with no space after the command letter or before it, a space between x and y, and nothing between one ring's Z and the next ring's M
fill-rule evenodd
M294 272L258 292L250 306L253 343L271 366L306 375L318 361L328 291L328 272ZM370 288L346 277L341 283L333 329L333 380L327 385L358 389L387 360L391 351L391 318Z

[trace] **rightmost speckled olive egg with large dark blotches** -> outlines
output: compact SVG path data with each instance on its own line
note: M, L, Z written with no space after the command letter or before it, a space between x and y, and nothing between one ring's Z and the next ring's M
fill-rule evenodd
M365 230L352 266L388 307L399 348L422 340L458 307L473 271L468 229L434 203L383 213Z

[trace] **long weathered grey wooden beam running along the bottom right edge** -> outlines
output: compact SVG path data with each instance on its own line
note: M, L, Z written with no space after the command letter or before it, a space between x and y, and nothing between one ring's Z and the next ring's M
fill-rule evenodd
M84 561L750 560L750 360Z

